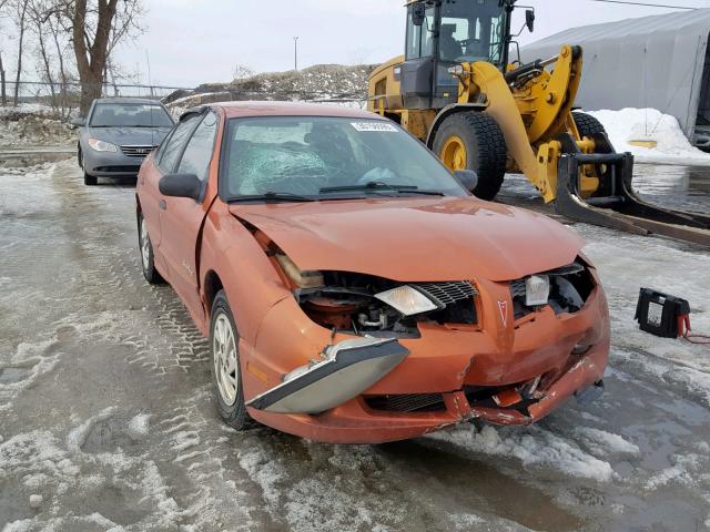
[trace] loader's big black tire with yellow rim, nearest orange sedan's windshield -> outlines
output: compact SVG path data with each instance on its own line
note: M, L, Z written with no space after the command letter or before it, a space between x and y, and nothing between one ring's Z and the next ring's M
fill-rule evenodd
M493 116L479 111L456 113L444 120L434 139L434 153L449 170L473 170L478 185L471 191L494 200L506 174L508 147Z

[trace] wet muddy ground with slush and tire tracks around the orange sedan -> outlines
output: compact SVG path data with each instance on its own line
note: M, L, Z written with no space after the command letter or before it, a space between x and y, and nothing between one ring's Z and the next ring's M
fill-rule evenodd
M612 314L599 402L318 444L219 421L206 341L141 275L132 185L85 187L71 161L0 170L3 532L710 529L710 349L632 320L649 285L710 330L707 250L575 226Z

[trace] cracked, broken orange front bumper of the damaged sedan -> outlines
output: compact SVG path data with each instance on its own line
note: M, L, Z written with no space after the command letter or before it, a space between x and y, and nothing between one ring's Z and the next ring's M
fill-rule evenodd
M495 316L491 310L507 287L489 284L484 288L483 315ZM478 328L423 325L420 338L390 341L389 348L399 346L402 351L390 354L395 358L389 362L407 354L381 377L375 378L377 371L371 372L369 386L365 386L367 379L355 386L349 381L357 372L347 376L333 371L338 368L333 365L324 374L329 381L321 385L320 379L305 379L298 386L288 386L290 380L282 382L284 366L286 371L302 367L308 352L320 352L324 345L333 344L329 331L301 315L290 299L281 301L265 317L256 346L241 346L250 360L243 374L245 397L254 397L248 407L257 421L323 442L396 441L471 419L530 424L572 396L585 399L598 395L609 354L607 304L598 288L576 314L556 316L551 309L541 309L525 319L510 320L505 328L487 327L486 323ZM281 327L287 321L294 327ZM266 332L272 330L280 334ZM337 336L339 344L352 338ZM576 355L580 344L590 347ZM282 356L276 360L268 354ZM261 362L260 369L251 367L253 360ZM536 380L539 386L531 389L529 383ZM281 397L277 390L285 388L294 393L303 391L301 397ZM331 401L328 396L335 390L342 393ZM280 402L287 396L290 400ZM278 410L270 411L270 406Z

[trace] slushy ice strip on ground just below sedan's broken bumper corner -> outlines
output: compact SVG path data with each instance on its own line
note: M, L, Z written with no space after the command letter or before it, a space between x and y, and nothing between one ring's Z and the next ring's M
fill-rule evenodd
M479 432L473 426L462 424L428 438L481 454L515 457L526 468L548 466L566 474L598 482L608 482L615 477L608 462L587 454L570 441L539 427L507 430L485 426Z

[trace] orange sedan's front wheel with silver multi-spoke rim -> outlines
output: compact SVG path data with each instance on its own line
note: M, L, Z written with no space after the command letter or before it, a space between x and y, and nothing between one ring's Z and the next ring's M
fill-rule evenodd
M230 303L224 290L220 290L212 304L210 320L212 385L222 420L235 430L245 430L255 423L244 405L239 339Z

